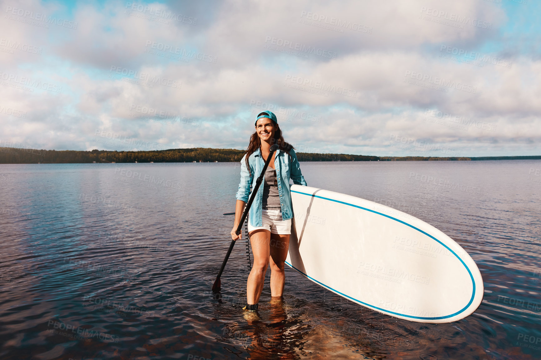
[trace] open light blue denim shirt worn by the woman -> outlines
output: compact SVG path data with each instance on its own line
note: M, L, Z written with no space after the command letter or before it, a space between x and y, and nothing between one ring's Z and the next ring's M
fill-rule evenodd
M287 152L282 150L276 150L274 157L274 168L276 169L276 178L278 180L278 194L280 195L280 208L282 210L282 219L288 220L293 218L293 206L291 203L291 190L289 189L289 179L293 180L294 184L306 185L304 176L301 174L301 168L295 151L291 149L289 151L291 158ZM248 158L250 169L246 168L246 155L242 157L240 161L240 184L239 191L236 193L237 200L242 200L247 203L249 197L252 195L252 185L255 185L255 179L261 174L265 161L261 157L261 151L258 149L254 151ZM263 175L263 181L259 186L258 193L254 198L252 207L249 211L250 224L254 227L262 226L263 221L261 219L262 203L263 203L263 184L265 184L265 176Z

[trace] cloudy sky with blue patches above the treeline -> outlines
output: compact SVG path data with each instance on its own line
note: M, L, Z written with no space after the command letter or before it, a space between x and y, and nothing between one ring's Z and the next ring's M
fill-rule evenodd
M541 155L539 2L0 4L0 146Z

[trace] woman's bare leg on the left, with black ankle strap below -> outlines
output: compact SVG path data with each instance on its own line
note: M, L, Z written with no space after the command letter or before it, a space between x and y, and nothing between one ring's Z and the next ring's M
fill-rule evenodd
M248 304L257 304L263 283L265 282L265 274L269 265L269 241L271 239L271 231L258 229L250 233L250 243L252 243L252 254L254 254L254 265L248 275L246 283L246 299ZM272 282L272 281L271 281Z

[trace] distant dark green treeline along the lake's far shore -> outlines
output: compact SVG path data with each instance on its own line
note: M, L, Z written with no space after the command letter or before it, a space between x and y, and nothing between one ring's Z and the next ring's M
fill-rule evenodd
M182 163L182 162L239 162L245 150L236 149L169 149L156 151L74 151L0 148L0 164L37 163ZM365 156L348 154L313 154L298 152L299 161L456 161L541 159L541 156L494 157L420 157L420 156Z

